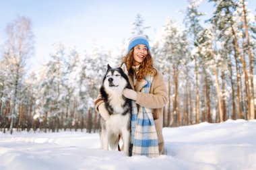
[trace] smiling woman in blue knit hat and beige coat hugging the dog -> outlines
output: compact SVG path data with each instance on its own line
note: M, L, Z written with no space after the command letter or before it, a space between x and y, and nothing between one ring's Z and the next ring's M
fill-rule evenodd
M150 46L145 36L133 36L129 41L128 54L123 58L133 89L125 89L123 95L132 99L131 115L132 155L156 157L163 155L162 136L163 108L167 103L166 86L162 73L153 67ZM108 112L103 101L95 101L96 110L105 120Z

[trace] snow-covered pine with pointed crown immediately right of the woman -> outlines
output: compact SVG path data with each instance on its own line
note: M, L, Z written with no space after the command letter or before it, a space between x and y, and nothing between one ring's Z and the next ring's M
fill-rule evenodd
M166 26L164 26L162 33L152 48L152 54L156 56L156 58L154 58L157 63L156 66L164 73L164 77L167 81L169 102L166 126L170 126L172 122L174 122L174 126L179 126L179 124L184 123L181 118L183 110L180 109L183 102L179 102L179 95L182 96L185 93L179 91L179 87L182 85L179 80L185 75L185 60L187 60L187 54L189 54L186 36L187 35L181 31L175 22L168 19ZM172 93L174 93L173 99ZM172 112L171 103L173 105ZM187 111L184 110L184 112ZM171 115L171 113L173 115Z

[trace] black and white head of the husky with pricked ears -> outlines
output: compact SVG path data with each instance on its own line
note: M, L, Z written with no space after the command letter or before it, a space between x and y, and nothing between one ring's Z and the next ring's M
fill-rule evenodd
M112 68L108 65L106 75L103 79L103 85L107 89L115 89L115 91L123 91L129 87L129 79L127 77L127 69L125 64L118 68Z

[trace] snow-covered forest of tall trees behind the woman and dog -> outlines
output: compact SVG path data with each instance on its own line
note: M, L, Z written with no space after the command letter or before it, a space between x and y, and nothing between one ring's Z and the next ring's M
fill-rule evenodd
M255 9L249 9L246 0L210 2L210 18L203 20L197 1L190 1L185 28L168 19L154 40L147 34L147 18L138 13L132 24L131 35L148 36L154 67L166 81L165 127L255 119ZM7 40L0 44L0 130L97 132L100 114L94 99L106 65L121 65L127 42L117 56L97 46L81 56L59 42L49 62L29 72L34 54L31 24L23 16L10 21Z

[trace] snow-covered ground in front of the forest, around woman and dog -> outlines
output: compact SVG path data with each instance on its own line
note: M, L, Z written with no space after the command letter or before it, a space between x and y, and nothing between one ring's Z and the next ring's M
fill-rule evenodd
M256 169L256 120L164 128L167 155L100 150L98 134L0 132L0 169Z

